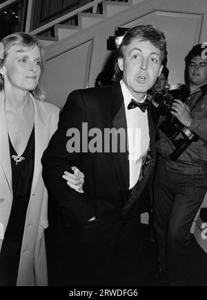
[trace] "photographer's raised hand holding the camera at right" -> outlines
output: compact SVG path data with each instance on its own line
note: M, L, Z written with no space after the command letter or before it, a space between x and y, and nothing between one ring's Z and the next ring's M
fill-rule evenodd
M170 113L180 121L186 127L190 127L190 124L193 121L193 118L190 114L190 109L186 103L183 103L181 100L176 99L171 106Z

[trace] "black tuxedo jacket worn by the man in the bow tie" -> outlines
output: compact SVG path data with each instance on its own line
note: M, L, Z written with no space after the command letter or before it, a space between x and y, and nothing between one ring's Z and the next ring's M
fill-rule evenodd
M148 182L156 155L155 130L150 115L150 148L139 180L131 193L128 191L127 150L121 152L118 147L117 152L92 153L83 152L80 147L80 152L67 152L66 144L70 139L66 136L68 129L79 130L81 145L86 139L88 132L83 133L82 139L82 123L87 123L88 130L99 128L102 134L104 128L126 130L124 97L118 82L108 87L73 91L61 112L58 130L43 153L43 179L49 196L57 202L64 224L66 227L77 226L94 215L96 218L112 213L119 213L121 218L139 215L139 196ZM88 137L88 142L94 141L94 136ZM62 178L64 171L72 166L77 166L85 175L84 193L72 190Z

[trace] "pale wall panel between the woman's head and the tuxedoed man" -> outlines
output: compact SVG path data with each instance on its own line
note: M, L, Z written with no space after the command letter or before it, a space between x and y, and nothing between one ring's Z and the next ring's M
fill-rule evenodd
M91 39L47 60L43 76L46 101L62 108L71 91L88 87L92 44Z

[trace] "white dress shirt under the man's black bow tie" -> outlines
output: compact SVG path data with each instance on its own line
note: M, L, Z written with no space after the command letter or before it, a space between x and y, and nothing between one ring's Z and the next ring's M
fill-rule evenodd
M120 81L124 106L126 112L127 135L128 135L128 160L129 160L129 189L137 184L142 164L150 145L148 113L142 112L139 107L128 109L128 104L135 98L132 96L123 80ZM146 97L144 98L144 100ZM144 102L142 100L141 102Z

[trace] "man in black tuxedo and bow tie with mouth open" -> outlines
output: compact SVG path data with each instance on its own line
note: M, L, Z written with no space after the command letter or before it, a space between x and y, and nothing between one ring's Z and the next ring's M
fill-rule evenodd
M59 219L58 285L139 284L139 195L155 164L146 96L165 56L164 33L130 28L117 49L121 80L68 96L42 158ZM68 166L84 173L83 193L62 179Z

